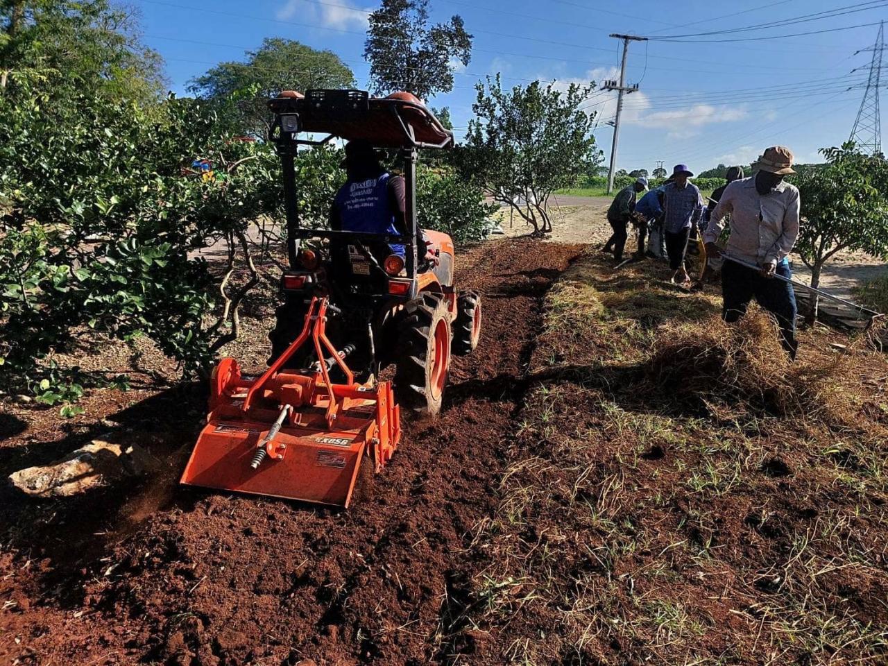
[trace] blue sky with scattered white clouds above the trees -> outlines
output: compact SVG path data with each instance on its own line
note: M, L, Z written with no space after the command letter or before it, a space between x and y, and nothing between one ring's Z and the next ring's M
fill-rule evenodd
M281 36L336 52L361 86L367 13L374 0L133 0L142 14L143 38L163 55L170 88L186 83L220 60L242 59L264 37ZM765 9L762 5L768 4ZM540 79L569 82L615 77L617 40L610 33L651 37L741 28L826 12L859 0L742 0L735 3L606 3L600 0L431 0L432 20L461 15L474 35L472 62L459 67L456 87L431 100L448 106L464 128L472 115L474 83L502 73L503 83ZM705 170L749 163L761 149L789 146L798 162L818 160L817 150L848 139L865 83L878 28L740 43L705 44L725 37L788 35L873 23L888 18L888 3L868 11L728 36L687 42L630 45L627 83L640 91L625 100L617 166L653 170L687 163ZM742 13L738 13L742 12ZM725 17L728 14L734 16ZM864 67L852 73L855 67ZM593 93L595 132L605 160L610 155L614 93ZM457 133L460 133L457 131Z

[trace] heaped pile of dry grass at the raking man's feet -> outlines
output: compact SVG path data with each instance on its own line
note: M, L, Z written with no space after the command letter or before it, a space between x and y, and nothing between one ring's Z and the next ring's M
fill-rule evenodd
M760 310L736 324L712 317L668 324L644 363L648 395L667 411L803 417L848 423L856 411L838 353L790 362L776 325Z

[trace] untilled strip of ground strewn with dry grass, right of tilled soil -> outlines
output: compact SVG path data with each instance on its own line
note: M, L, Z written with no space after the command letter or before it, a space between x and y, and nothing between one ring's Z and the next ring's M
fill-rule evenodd
M589 256L548 295L468 623L494 662L884 662L888 362L815 329L790 364L662 278Z

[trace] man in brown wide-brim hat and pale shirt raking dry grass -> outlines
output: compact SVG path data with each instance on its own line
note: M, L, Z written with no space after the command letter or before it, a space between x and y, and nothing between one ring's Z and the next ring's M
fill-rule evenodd
M706 252L721 256L716 245L725 215L731 215L731 235L726 255L759 266L755 271L727 260L722 266L722 316L733 322L756 299L780 324L781 342L789 357L796 358L796 295L792 285L774 275L792 277L789 251L798 237L800 200L798 188L784 178L795 173L787 147L773 146L753 166L752 178L735 180L725 188L703 234Z

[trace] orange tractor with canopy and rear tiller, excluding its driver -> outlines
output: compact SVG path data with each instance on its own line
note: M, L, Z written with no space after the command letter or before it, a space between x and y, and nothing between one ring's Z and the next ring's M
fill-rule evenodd
M392 458L400 406L438 414L451 353L478 345L480 297L457 293L450 237L419 236L433 260L417 247L417 152L452 147L453 135L408 93L376 99L365 91L284 91L268 106L289 258L270 365L250 377L234 359L219 361L207 424L181 482L347 507L359 481L372 480ZM397 152L406 234L300 225L297 149L336 138ZM394 243L404 246L403 257L387 254ZM381 380L391 366L392 379Z

